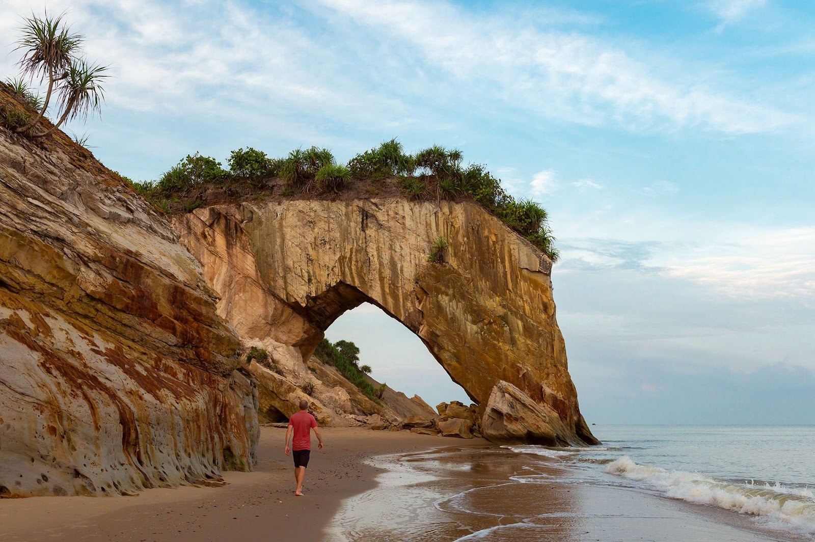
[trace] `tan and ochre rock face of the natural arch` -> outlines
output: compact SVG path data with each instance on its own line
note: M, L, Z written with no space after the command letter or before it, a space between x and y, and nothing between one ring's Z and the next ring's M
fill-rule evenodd
M531 428L559 424L553 443L597 442L566 367L551 262L478 205L253 201L196 209L174 227L222 297L218 314L267 347L287 377L302 376L303 360L339 315L370 302L421 338L478 403L479 417L490 412L491 438L527 440L501 433L513 427L496 421L509 410L490 405L507 382L522 403L553 412L527 420ZM449 248L442 263L429 263L438 237Z

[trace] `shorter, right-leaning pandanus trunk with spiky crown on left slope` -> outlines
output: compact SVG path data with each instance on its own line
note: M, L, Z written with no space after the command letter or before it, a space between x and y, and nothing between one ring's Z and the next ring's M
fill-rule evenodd
M105 73L107 70L108 66L91 65L85 60L74 59L57 89L62 117L59 117L59 121L51 130L34 137L42 138L51 134L67 120L87 117L92 112L101 112L104 102L104 88L101 83L110 77Z

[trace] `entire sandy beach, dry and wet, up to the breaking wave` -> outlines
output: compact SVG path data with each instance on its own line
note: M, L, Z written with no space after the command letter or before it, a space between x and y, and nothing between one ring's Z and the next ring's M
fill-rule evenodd
M0 500L0 540L790 540L723 510L569 483L481 439L322 431L306 496L293 495L285 430L264 427L257 470L225 487Z

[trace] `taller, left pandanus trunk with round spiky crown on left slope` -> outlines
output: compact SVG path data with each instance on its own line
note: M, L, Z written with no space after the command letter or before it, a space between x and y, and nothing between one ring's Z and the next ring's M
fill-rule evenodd
M40 19L37 15L24 20L21 29L23 36L17 41L17 50L23 50L23 58L18 63L23 73L32 80L45 82L48 90L40 114L18 131L28 131L37 126L46 114L51 95L57 82L67 77L74 63L74 54L82 42L79 34L70 33L63 24L63 15L49 17L47 12Z

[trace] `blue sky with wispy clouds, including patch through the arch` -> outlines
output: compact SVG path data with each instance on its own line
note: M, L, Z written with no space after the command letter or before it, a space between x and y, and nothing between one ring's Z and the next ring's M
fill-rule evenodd
M0 0L2 77L45 7L113 67L102 116L66 130L112 170L459 148L548 209L589 423L815 424L811 2ZM372 306L327 335L409 395L467 400Z

